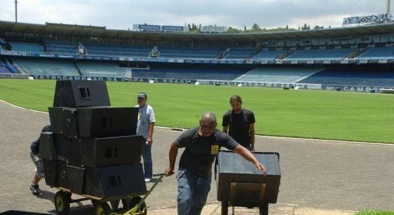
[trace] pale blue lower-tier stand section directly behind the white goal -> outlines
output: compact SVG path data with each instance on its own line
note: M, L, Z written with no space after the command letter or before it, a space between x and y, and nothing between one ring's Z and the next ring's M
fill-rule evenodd
M78 61L77 67L84 76L95 77L129 77L131 69L121 68L117 62ZM130 75L127 75L130 72Z

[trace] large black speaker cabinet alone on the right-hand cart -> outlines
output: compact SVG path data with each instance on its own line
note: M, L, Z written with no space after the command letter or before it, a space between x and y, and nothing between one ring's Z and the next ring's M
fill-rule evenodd
M241 156L220 151L217 166L217 199L231 206L259 207L276 203L281 181L278 153L259 153L254 156L267 168L267 175Z

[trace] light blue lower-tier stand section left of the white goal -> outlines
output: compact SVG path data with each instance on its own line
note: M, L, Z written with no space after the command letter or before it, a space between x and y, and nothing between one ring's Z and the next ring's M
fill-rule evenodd
M14 65L26 74L79 76L78 70L72 61L17 58L14 59Z

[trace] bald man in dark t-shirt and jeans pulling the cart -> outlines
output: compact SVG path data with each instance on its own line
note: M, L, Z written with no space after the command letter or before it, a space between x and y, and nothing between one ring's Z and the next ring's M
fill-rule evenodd
M211 189L212 163L220 147L226 147L252 162L266 173L265 167L248 149L238 144L233 138L216 128L216 116L206 112L201 116L200 125L183 132L170 148L170 167L166 176L171 176L175 168L178 148L185 148L179 161L178 214L200 214Z

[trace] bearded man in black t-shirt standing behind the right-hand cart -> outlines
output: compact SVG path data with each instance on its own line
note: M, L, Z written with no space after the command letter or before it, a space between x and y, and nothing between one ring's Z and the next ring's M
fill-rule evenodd
M254 151L254 114L242 109L242 99L239 95L231 96L231 109L223 115L223 132L230 135L245 148Z

